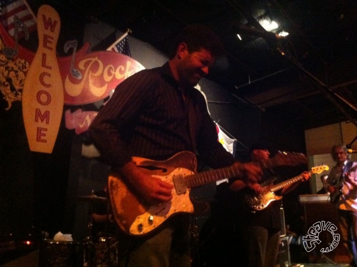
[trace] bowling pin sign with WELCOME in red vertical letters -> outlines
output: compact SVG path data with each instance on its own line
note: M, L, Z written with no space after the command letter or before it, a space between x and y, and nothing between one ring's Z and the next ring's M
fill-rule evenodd
M39 47L27 72L22 92L22 116L31 151L52 153L62 120L64 88L56 44L61 20L48 5L37 14Z

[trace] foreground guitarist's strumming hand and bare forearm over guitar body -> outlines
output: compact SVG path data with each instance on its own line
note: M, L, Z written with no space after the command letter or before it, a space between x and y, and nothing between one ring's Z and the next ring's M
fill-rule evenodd
M172 199L172 184L145 173L135 163L124 165L120 172L147 203L166 202Z

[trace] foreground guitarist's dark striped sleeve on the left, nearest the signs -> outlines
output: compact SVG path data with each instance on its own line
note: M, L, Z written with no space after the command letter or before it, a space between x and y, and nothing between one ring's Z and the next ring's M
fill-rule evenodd
M100 161L113 167L122 167L131 161L125 132L130 131L131 122L150 101L151 76L149 71L142 70L125 79L91 123L88 131L101 153Z

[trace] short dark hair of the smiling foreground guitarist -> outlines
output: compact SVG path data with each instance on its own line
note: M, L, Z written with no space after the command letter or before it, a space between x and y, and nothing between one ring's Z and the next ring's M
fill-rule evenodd
M190 53L204 48L209 50L213 57L224 54L224 47L219 38L210 28L201 24L188 25L177 35L171 45L170 59L175 57L180 43L185 43Z

